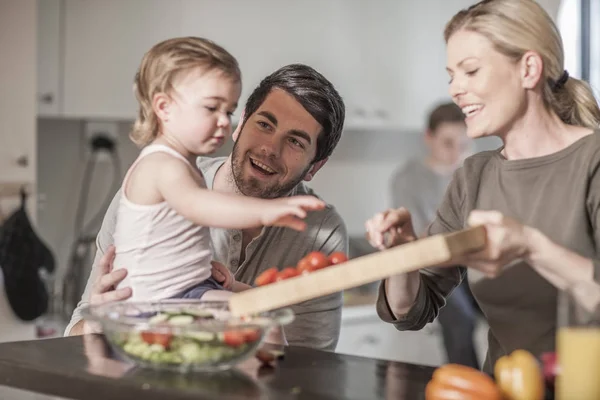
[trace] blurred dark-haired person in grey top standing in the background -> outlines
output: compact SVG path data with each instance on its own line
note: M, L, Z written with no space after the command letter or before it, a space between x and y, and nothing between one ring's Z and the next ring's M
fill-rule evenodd
M429 115L424 159L408 161L391 178L392 207L410 211L415 233L423 236L434 220L452 174L467 155L470 141L465 116L454 103L440 104ZM473 344L475 306L467 280L440 310L444 345L451 363L479 368Z

